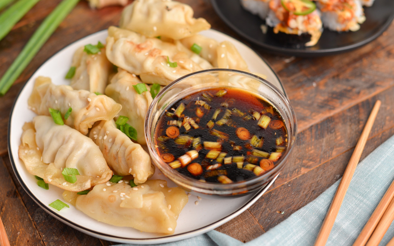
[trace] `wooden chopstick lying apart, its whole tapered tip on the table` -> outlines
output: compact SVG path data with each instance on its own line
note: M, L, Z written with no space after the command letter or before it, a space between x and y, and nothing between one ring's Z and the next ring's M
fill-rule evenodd
M372 125L375 122L380 105L381 101L377 100L364 126L364 129L361 132L360 139L357 142L356 148L354 149L352 157L349 160L345 173L342 176L342 180L339 183L334 198L332 199L331 205L328 209L328 213L323 221L323 225L320 228L320 232L317 236L315 246L326 245L329 233L331 232L331 228L334 225L336 215L338 215L339 209L341 208L342 201L345 198L346 191L349 187L350 181L352 180L353 174L356 171L356 167L359 163L362 150L365 147L366 140L368 139L369 132L371 131Z

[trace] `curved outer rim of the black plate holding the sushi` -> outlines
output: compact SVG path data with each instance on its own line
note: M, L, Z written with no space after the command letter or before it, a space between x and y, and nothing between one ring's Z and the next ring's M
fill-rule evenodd
M239 3L239 0L235 0L237 3ZM239 30L237 27L235 27L232 22L230 22L229 19L220 11L220 8L218 6L217 0L211 0L211 4L213 6L213 9L215 10L216 14L228 25L233 31L235 31L238 35L242 36L246 40L259 45L260 47L263 47L265 51L270 52L270 53L279 53L282 55L292 55L292 56L298 56L298 57L320 57L320 56L325 56L325 55L335 55L335 54L340 54L348 51L355 50L357 48L360 48L361 46L364 46L365 44L375 40L378 38L384 31L386 31L391 23L394 20L394 11L390 15L390 17L387 19L386 23L382 25L375 34L371 35L370 37L357 42L355 44L351 45L346 45L343 47L339 48L332 48L332 49L319 49L319 50L300 50L297 48L286 48L286 47L276 47L272 46L269 44L266 44L262 41L259 41L255 38L250 37L249 35L243 33L241 30ZM240 4L240 3L239 3ZM242 6L241 6L242 7ZM252 14L252 13L250 13ZM265 62L265 61L264 61Z

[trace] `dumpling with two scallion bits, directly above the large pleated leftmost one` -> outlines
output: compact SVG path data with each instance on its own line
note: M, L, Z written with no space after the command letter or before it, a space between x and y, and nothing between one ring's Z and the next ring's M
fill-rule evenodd
M57 109L64 116L72 109L65 124L86 135L97 121L112 120L122 106L106 95L96 95L85 90L74 91L70 86L56 86L50 78L38 77L28 100L29 108L38 115L50 115L49 108Z

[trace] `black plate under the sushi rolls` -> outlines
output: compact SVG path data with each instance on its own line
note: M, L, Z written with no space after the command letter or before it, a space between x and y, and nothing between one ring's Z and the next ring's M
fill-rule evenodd
M325 29L319 42L312 47L286 47L274 37L272 28L266 34L260 29L265 21L241 6L240 0L211 0L216 13L249 41L262 46L266 51L291 56L318 57L333 55L361 47L377 38L394 18L394 0L375 0L372 7L364 7L366 21L359 31L336 32Z

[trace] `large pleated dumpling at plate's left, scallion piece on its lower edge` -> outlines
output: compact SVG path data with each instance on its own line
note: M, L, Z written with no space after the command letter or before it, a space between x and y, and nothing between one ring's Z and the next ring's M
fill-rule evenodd
M67 125L54 123L49 116L36 116L25 123L19 146L19 158L29 173L46 183L71 191L83 191L107 182L112 171L99 147L87 136ZM76 168L76 182L66 182L65 168Z

